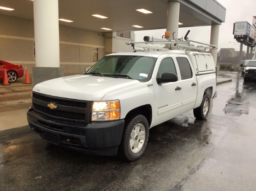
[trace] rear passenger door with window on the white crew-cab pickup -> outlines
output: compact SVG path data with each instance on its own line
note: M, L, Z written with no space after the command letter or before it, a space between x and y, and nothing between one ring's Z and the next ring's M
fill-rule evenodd
M197 96L197 80L195 72L187 57L176 57L181 73L182 108L181 113L194 108Z

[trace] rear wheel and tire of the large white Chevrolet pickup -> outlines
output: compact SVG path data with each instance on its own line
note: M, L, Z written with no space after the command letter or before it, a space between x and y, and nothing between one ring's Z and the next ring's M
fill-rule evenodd
M209 94L205 94L202 98L202 103L200 107L193 109L194 116L196 119L203 120L206 119L209 114L210 109L210 96Z

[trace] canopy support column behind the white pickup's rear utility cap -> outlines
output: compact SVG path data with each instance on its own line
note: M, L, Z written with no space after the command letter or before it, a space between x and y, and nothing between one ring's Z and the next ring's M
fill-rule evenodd
M211 25L211 37L210 37L210 44L211 45L216 45L218 46L218 42L219 42L219 32L220 32L220 25ZM217 64L217 53L218 53L218 50L215 49L210 49L210 53L213 57L213 60L214 60L214 63L215 63L215 66Z

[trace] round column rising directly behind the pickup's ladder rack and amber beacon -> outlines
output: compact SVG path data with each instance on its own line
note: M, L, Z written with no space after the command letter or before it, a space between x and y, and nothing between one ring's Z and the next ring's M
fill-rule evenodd
M167 12L167 26L166 31L170 32L170 38L174 33L174 38L178 38L179 30L179 17L180 17L180 3L171 1L168 2L168 12Z

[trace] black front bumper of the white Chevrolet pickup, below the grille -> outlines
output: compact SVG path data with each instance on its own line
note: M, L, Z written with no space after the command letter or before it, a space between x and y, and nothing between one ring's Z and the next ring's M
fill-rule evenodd
M124 128L124 120L78 123L52 119L27 109L30 128L44 140L83 153L116 155Z

